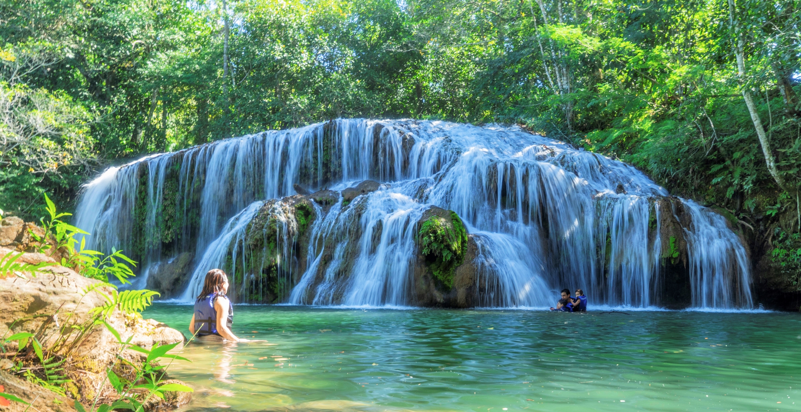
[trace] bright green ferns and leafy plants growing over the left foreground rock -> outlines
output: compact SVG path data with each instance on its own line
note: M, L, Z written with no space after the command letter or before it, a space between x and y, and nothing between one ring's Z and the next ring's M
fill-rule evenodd
M126 380L117 376L113 372L113 365L108 368L107 375L111 385L118 390L120 399L111 404L97 405L98 399L91 407L91 412L108 412L115 409L143 410L143 405L153 396L163 398L168 391L191 391L191 388L174 383L163 383L162 377L166 366L159 366L155 361L159 358L186 360L184 357L168 354L167 351L175 348L172 345L156 345L151 349L144 349L138 345L131 344L131 337L127 341L122 341L119 333L107 323L107 318L115 310L123 313L141 313L147 306L152 304L153 298L159 296L158 292L151 290L124 290L119 292L117 286L109 282L111 277L115 277L123 284L131 283L128 278L133 277L134 273L131 266L136 262L125 256L121 250L112 248L111 254L103 255L102 252L88 250L86 248L86 238L80 242L79 249L75 250L78 244L74 236L78 234L88 234L79 228L66 224L60 220L63 216L70 216L69 213L58 213L54 203L45 196L46 210L50 213L50 220L42 220L44 235L34 237L40 242L39 250L47 250L53 244L58 249L66 248L69 252L68 257L62 257L62 265L73 267L79 270L85 277L99 279L101 282L93 283L83 289L83 297L88 293L99 293L105 299L103 305L90 309L89 316L83 321L74 322L75 313L51 313L22 317L11 323L9 330L14 325L23 321L30 321L36 317L45 317L45 321L38 327L36 333L14 333L10 337L3 337L4 343L13 341L18 342L18 349L11 358L14 363L12 372L22 374L28 381L42 386L53 392L65 395L64 384L72 382L66 378L65 370L70 365L70 358L74 349L77 349L83 342L87 333L95 329L95 326L105 325L114 334L120 344L120 351L117 354L119 362L135 371L135 376ZM32 235L35 236L33 232ZM14 273L16 276L25 277L23 273L30 273L35 276L36 270L53 263L42 263L30 265L17 262L22 253L14 254L9 252L0 260L0 277ZM131 265L131 266L129 266ZM108 289L106 289L108 288ZM108 291L107 291L108 290ZM79 300L76 307L80 304ZM58 317L61 317L59 324ZM55 326L55 328L52 328ZM47 333L50 335L46 336ZM42 345L42 341L48 342L48 346ZM147 356L141 363L131 362L120 356L124 350L131 349L136 352L144 353ZM0 350L5 351L5 345L0 345ZM3 399L24 402L14 395L8 395ZM84 410L79 402L75 402L77 410Z

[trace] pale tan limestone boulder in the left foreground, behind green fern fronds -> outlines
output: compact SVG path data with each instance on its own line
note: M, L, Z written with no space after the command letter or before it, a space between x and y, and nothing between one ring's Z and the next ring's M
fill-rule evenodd
M0 254L7 252L10 249L0 248ZM22 260L36 264L52 259L42 253L23 253L18 261ZM107 367L116 361L119 353L119 343L113 333L103 325L92 323L90 310L103 305L106 302L103 294L111 293L109 287L98 284L99 281L59 265L43 268L35 277L27 279L14 276L0 279L0 305L3 308L0 311L0 335L38 333L42 345L49 347L59 338L59 331L64 330L62 328L66 325L78 325L87 330L83 336L79 333L70 335L70 345L62 345L62 349L55 352L66 354L66 348L74 344L74 349L69 352L69 362L64 366L67 378L73 382L64 387L71 397L78 400L92 399L97 394L102 397L113 397L115 394L110 384L98 386L98 382L103 382ZM18 321L23 318L23 321ZM106 321L119 332L123 340L131 337L132 342L145 348L154 344L185 341L178 330L151 319L142 319L138 314L123 314L115 310ZM16 341L9 342L5 349L7 352L16 352L17 345ZM139 362L143 359L141 353L130 349L123 352L123 357ZM24 382L14 377L8 379L11 379L10 382ZM63 411L72 410L63 405L60 405Z

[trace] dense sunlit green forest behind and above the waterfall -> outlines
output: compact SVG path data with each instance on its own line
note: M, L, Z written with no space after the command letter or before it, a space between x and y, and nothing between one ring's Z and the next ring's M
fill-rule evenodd
M798 0L2 0L0 208L340 116L519 123L717 208L798 290L799 23Z

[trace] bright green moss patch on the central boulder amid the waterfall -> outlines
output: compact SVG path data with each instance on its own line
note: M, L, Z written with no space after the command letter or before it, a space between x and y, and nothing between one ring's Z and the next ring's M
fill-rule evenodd
M448 222L441 216L431 216L418 232L425 263L446 289L453 287L453 273L465 261L467 252L465 225L455 212L450 212L450 218Z

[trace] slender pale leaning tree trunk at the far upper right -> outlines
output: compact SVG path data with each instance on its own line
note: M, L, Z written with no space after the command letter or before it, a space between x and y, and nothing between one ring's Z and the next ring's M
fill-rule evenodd
M734 0L729 0L729 26L735 30L735 57L737 58L737 74L739 75L738 82L740 84L740 90L743 92L743 99L746 102L746 107L748 107L748 113L751 114L751 121L754 123L756 135L759 137L759 144L762 146L762 153L765 156L767 171L771 173L776 184L779 184L779 188L787 192L795 193L795 190L791 190L794 188L791 188L790 185L784 181L782 175L779 174L779 168L776 168L776 160L771 150L771 141L767 138L762 120L759 119L759 113L756 111L754 99L751 97L751 90L749 90L745 84L746 63L745 53L743 51L745 48L745 41L743 40L743 34L740 33L740 22L739 20L735 20Z

